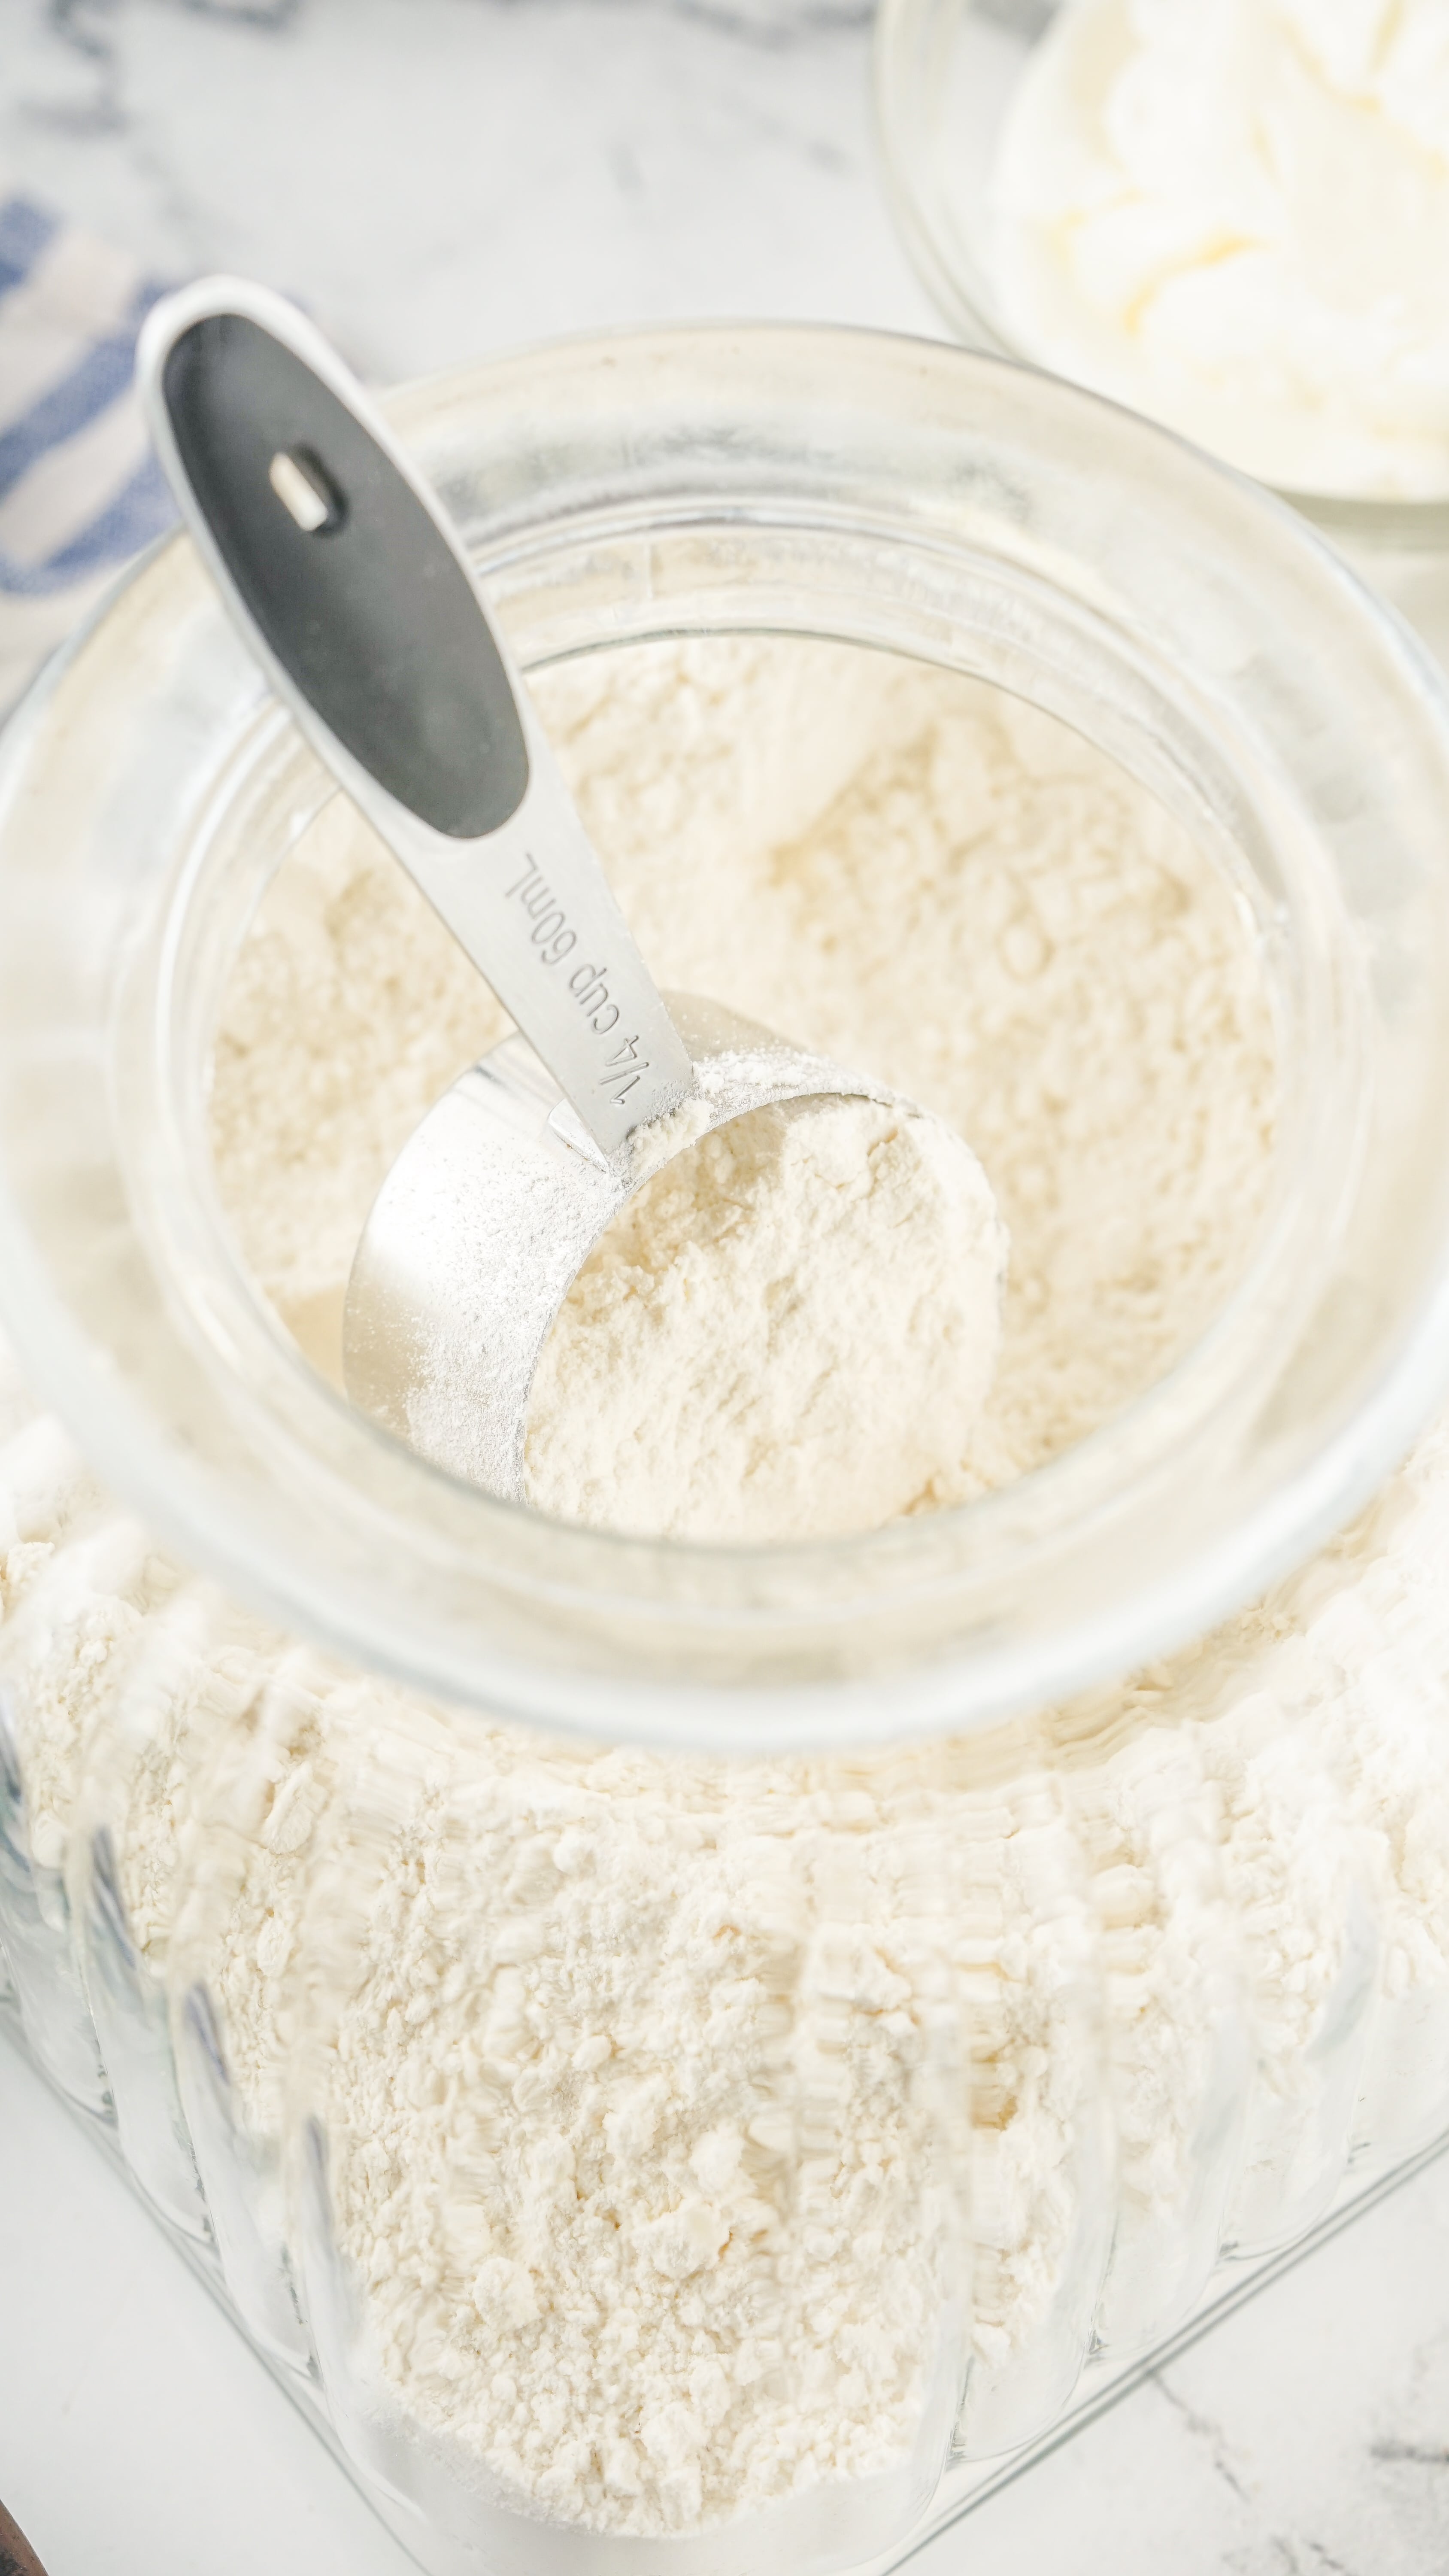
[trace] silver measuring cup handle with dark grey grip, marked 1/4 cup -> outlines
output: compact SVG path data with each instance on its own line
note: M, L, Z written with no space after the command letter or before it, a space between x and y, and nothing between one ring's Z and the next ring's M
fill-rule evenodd
M690 1056L443 505L322 335L260 286L167 296L136 363L268 680L613 1151L685 1097Z

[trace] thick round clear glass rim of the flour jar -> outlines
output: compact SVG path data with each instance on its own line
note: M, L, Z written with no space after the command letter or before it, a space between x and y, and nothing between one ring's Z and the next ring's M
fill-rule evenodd
M530 667L746 629L885 647L1063 716L1163 799L1271 992L1246 1275L1078 1448L857 1540L638 1543L427 1468L278 1329L216 1203L219 994L329 781L170 544L5 742L0 1265L36 1386L263 1615L605 1739L973 1726L1261 1592L1372 1492L1449 1355L1449 719L1413 641L1261 492L921 343L597 340L396 420Z

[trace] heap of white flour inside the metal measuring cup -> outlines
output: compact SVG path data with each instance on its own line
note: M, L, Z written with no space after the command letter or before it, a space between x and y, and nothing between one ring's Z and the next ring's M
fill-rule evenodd
M528 1499L754 1543L955 1499L1004 1267L991 1188L939 1121L752 1110L656 1172L574 1280L533 1381Z

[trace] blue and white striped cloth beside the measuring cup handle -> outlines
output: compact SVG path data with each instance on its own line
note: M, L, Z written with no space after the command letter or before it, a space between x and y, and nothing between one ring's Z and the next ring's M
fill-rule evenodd
M131 384L165 286L0 193L0 716L175 510Z

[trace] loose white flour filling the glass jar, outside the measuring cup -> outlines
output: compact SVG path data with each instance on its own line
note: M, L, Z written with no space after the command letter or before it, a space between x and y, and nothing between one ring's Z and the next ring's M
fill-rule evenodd
M1271 1133L1246 938L1176 827L1058 726L824 647L672 647L540 696L661 979L978 1144L1014 1262L973 1473L1156 1376L1243 1260ZM656 853L687 832L682 884ZM214 1103L252 1267L319 1358L389 1154L497 1030L332 809L242 961ZM324 2112L383 2388L538 2509L679 2532L911 2450L952 2264L927 2184L965 2141L942 1971L983 2445L1066 2398L1094 2313L1150 2331L1220 2228L1336 2179L1356 1909L1359 2128L1441 2112L1444 1430L1132 1685L901 1762L749 1767L551 1749L283 1649L93 1538L75 1461L13 1437L31 1839L62 1855L100 1795L139 1940L206 1978L257 2133Z

